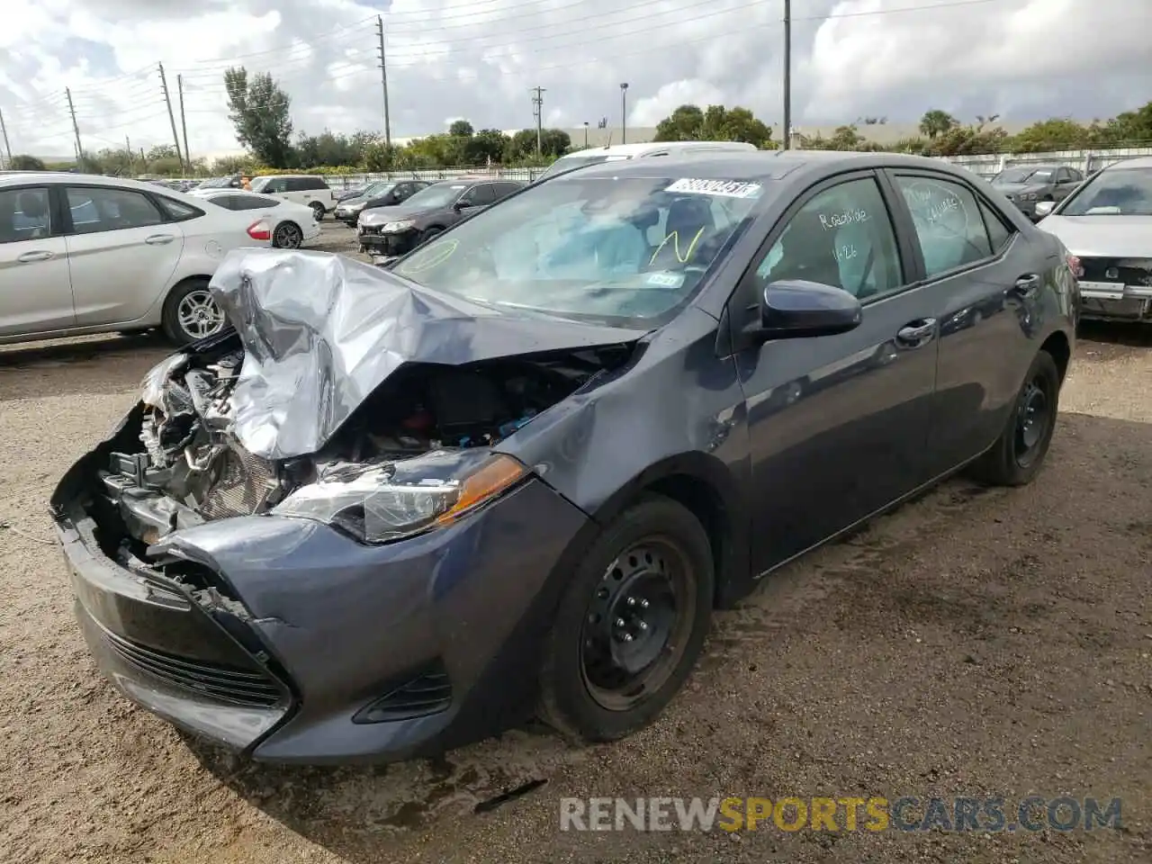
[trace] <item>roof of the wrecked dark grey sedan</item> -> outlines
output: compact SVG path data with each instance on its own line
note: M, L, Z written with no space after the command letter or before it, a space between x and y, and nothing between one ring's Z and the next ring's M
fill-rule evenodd
M794 172L831 175L865 168L930 168L971 179L971 172L940 159L855 150L756 150L669 153L660 159L598 162L556 174L544 182L583 177L698 177L700 180L781 180Z

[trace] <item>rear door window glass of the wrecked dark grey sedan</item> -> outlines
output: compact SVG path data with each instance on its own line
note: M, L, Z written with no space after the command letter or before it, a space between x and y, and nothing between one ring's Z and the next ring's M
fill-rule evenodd
M934 276L992 256L992 241L976 195L962 183L923 176L897 176L908 203L925 275Z

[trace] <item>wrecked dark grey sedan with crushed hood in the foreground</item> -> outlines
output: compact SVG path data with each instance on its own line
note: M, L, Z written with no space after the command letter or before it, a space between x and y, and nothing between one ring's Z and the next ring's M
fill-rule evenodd
M621 737L766 574L958 469L1036 477L1066 251L962 169L783 151L582 168L391 267L233 252L236 329L52 497L82 629L256 759Z

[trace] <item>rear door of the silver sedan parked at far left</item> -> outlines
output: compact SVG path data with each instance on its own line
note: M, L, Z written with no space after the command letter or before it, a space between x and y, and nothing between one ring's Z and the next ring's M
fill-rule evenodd
M180 225L135 189L68 185L65 196L76 325L143 317L180 263Z

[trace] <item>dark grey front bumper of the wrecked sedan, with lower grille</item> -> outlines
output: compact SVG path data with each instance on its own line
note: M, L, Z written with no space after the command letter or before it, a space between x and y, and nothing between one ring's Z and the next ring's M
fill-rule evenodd
M76 501L55 520L85 639L124 696L257 760L304 764L434 755L529 715L560 562L590 524L531 479L456 525L386 546L251 516L150 548L152 561L211 574L220 606L160 566L106 554L114 538Z

